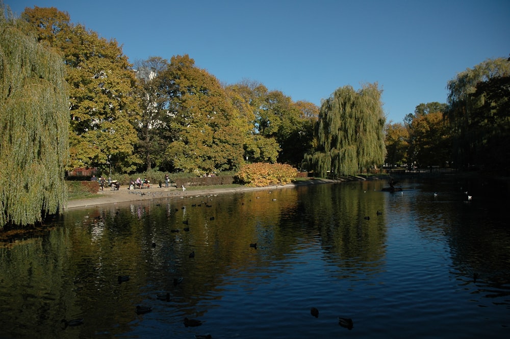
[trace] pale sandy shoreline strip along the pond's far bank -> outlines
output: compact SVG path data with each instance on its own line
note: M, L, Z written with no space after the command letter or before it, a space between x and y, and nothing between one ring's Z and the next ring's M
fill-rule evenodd
M378 179L369 178L369 179ZM88 199L75 199L67 201L64 211L68 211L74 208L89 208L103 204L115 204L121 202L138 201L138 200L154 200L163 199L170 197L187 197L195 195L210 195L210 194L223 194L223 193L235 193L235 192L247 192L247 191L259 191L259 190L271 190L271 189L282 189L282 188L293 188L303 185L321 185L321 184L334 184L336 182L345 181L361 181L366 180L364 177L352 176L341 179L310 179L290 182L285 185L269 185L264 187L234 187L234 188L207 188L200 189L194 188L192 190L183 191L175 187L154 187L150 189L136 189L132 191L99 191L99 196L88 198Z

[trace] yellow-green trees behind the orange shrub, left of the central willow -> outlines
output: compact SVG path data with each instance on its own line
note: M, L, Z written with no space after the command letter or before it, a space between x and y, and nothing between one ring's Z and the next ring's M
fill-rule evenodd
M258 82L244 80L226 87L243 124L244 158L250 162L300 165L313 141L318 108L280 91L268 91Z

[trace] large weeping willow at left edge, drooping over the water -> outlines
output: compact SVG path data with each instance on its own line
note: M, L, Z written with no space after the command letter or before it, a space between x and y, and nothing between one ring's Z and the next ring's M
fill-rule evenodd
M66 201L69 106L62 59L23 34L0 3L0 228Z

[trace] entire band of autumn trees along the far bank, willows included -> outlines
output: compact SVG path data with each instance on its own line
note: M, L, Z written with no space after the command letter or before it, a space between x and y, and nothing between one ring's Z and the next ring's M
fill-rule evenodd
M78 167L204 175L281 163L340 176L384 163L508 165L507 59L457 74L447 104L395 124L377 83L338 88L317 107L256 81L222 84L188 55L130 63L56 8L0 9L0 177L12 184L0 227L61 210L64 173Z

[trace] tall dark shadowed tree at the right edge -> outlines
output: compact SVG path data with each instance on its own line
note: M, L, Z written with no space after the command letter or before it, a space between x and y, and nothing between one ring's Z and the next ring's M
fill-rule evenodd
M448 82L448 117L458 167L470 164L510 169L506 157L510 58L488 59Z

